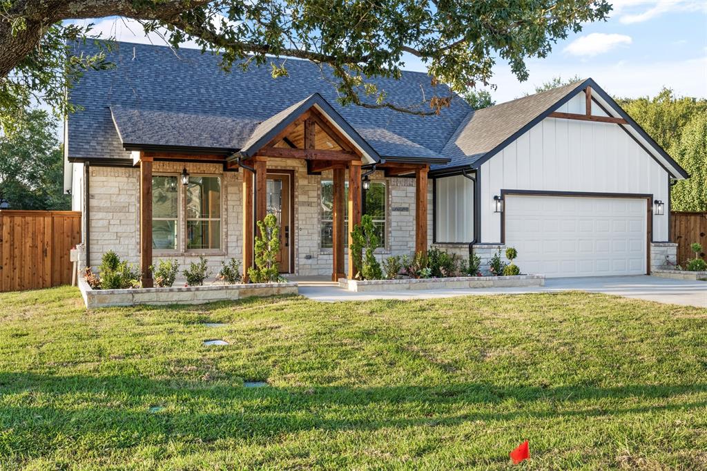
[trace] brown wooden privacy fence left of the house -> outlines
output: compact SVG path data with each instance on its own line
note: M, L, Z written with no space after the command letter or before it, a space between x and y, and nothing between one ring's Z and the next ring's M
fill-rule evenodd
M69 250L81 243L78 211L0 211L0 291L71 283Z

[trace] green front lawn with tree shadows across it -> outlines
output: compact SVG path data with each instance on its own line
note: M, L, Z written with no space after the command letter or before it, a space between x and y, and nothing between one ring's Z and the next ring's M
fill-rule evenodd
M0 469L704 469L706 367L707 310L600 294L4 293Z

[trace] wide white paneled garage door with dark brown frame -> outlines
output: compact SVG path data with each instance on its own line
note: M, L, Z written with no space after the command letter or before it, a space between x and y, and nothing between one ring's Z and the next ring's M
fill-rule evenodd
M645 199L506 195L506 246L523 273L645 274Z

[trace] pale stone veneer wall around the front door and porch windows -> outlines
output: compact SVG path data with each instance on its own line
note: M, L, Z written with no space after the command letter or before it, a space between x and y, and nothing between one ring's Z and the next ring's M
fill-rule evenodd
M243 189L242 173L223 172L222 165L203 163L155 162L153 173L179 174L187 168L191 175L221 175L223 198L223 250L214 253L160 252L153 259L175 258L182 267L194 262L199 255L209 260L209 267L218 272L221 260L240 259L243 252ZM268 170L294 170L293 226L296 233L295 266L298 275L316 276L332 273L332 250L320 248L320 180L331 179L331 172L308 175L304 161L269 159ZM348 176L346 176L348 178ZM387 246L379 250L379 260L389 255L412 254L415 245L415 179L385 178L382 172L370 175L371 180L387 182ZM432 241L432 185L428 191L428 244ZM182 204L184 202L182 201ZM139 264L139 168L91 166L90 168L90 264L98 266L108 250L133 264ZM185 231L179 231L180 248L186 245ZM467 249L468 250L468 249ZM344 260L347 260L345 257Z

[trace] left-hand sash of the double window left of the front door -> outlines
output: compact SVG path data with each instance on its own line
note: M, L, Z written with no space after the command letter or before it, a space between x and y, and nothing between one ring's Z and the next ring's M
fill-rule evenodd
M152 247L177 250L179 188L176 176L152 178Z

